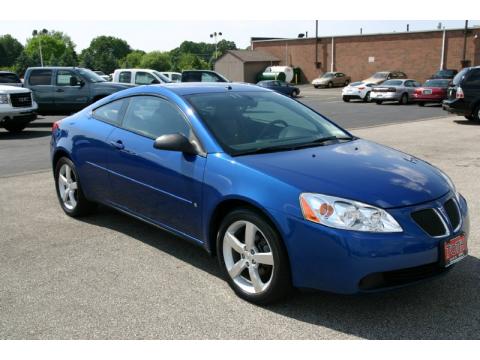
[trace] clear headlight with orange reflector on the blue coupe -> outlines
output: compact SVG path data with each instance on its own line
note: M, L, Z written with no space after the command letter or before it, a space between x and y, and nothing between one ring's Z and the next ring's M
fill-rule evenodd
M300 207L306 220L336 229L383 233L403 231L385 210L358 201L302 193Z

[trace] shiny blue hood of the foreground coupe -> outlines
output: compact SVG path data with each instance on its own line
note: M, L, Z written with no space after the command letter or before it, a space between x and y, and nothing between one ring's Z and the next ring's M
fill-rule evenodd
M357 139L301 150L239 156L236 161L296 187L382 208L427 202L451 190L432 165Z

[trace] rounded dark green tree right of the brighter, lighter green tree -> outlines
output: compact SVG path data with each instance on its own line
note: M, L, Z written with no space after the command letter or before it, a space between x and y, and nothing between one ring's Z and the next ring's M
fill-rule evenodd
M130 45L123 39L98 36L80 54L80 65L109 74L119 67L120 60L131 51Z

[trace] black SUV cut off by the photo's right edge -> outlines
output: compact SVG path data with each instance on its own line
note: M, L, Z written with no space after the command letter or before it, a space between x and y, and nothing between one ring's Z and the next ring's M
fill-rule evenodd
M461 70L453 78L447 94L442 105L444 110L480 121L480 66Z

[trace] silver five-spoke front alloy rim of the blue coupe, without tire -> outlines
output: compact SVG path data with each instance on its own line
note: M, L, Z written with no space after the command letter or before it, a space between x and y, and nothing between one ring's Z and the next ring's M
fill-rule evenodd
M228 275L248 294L264 293L273 278L270 243L250 221L232 223L223 237L223 258Z

